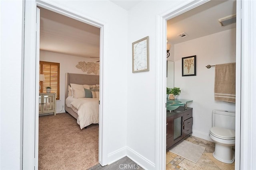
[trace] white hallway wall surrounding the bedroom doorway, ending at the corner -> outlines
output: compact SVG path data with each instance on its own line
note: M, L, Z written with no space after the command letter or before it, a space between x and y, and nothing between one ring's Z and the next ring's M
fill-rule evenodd
M110 1L49 3L104 25L105 90L101 98L103 127L107 127L104 129L104 157L105 163L113 162L126 155L127 12ZM21 0L1 1L1 44L4 51L1 51L0 169L19 169L20 166L22 14ZM10 101L15 101L15 104Z

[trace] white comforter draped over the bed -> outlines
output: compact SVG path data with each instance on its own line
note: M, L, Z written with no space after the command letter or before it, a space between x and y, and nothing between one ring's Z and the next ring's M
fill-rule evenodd
M71 102L71 105L78 109L77 123L81 129L99 123L99 98L79 98Z

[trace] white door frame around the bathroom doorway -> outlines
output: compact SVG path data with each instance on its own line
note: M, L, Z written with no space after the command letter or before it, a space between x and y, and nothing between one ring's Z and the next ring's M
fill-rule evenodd
M166 169L166 37L167 20L188 10L196 8L210 0L188 1L157 16L156 52L156 169ZM237 18L241 18L241 4L237 1ZM236 75L241 75L241 21L236 25ZM241 117L241 76L236 79L236 167L240 167L240 117ZM163 131L164 129L164 131Z

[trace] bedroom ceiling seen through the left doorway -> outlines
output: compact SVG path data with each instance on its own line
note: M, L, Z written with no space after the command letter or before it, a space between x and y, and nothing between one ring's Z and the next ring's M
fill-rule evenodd
M100 28L40 8L40 49L78 57L99 57Z

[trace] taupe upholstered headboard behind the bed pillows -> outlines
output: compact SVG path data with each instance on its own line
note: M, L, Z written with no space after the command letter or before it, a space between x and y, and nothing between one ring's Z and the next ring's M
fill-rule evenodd
M66 86L65 86L65 100L68 97L68 85L70 83L74 84L87 84L87 85L95 85L100 84L100 76L97 75L89 75L89 74L74 74L67 73L66 74Z

